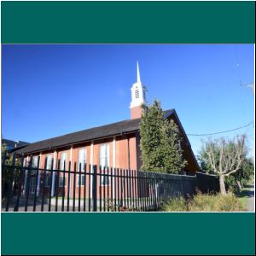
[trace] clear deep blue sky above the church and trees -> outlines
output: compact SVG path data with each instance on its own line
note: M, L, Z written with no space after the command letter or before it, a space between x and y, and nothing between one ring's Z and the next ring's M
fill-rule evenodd
M148 102L175 108L187 133L247 125L253 58L253 44L2 45L2 134L32 143L130 119L137 61ZM253 125L222 136L241 132L253 148ZM205 138L189 136L195 154Z

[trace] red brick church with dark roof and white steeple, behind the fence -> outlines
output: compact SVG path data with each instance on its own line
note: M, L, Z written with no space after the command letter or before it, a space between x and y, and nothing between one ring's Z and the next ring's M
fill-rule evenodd
M30 143L25 148L17 150L16 153L23 155L26 163L32 158L32 166L42 169L45 158L47 158L47 169L51 167L57 169L59 161L61 163L59 167L63 169L64 163L70 161L71 166L74 162L78 163L77 166L81 164L82 171L84 171L85 163L91 166L140 170L142 160L139 147L139 124L142 115L141 106L146 102L146 90L141 82L137 63L137 82L131 87L131 119ZM183 157L187 160L184 172L194 175L200 168L176 111L174 109L166 110L165 117L166 119L173 119L178 125L183 137L181 145ZM53 166L51 166L52 163Z

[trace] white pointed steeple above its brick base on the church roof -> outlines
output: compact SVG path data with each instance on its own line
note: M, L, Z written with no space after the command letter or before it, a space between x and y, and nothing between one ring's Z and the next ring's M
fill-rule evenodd
M137 82L131 87L131 105L130 108L141 107L146 103L146 87L141 82L140 69L137 62Z

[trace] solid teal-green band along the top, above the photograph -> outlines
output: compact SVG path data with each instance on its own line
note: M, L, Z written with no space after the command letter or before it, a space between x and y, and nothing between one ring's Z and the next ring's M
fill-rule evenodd
M253 44L254 2L1 2L2 44Z

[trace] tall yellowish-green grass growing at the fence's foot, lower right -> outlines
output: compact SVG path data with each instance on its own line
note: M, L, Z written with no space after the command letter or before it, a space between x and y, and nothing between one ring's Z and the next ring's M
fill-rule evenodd
M172 198L161 207L161 212L241 212L245 211L243 203L233 194L202 195L193 198Z

